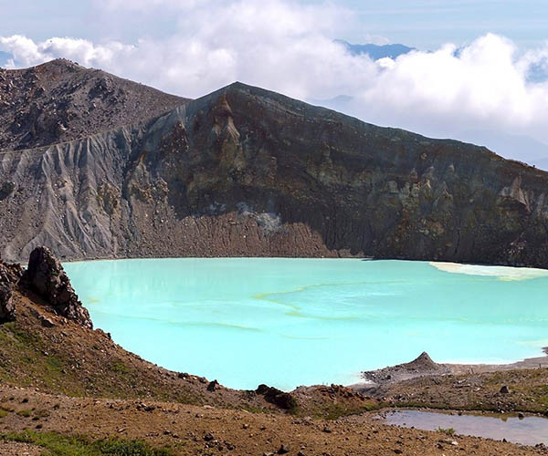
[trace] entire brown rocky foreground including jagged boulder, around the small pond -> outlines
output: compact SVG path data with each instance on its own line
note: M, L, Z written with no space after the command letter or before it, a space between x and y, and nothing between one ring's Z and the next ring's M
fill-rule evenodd
M375 410L397 405L472 409L483 401L483 409L492 409L487 407L492 404L503 410L542 411L548 381L544 368L480 374L491 387L474 389L471 401L460 389L478 386L478 376L456 377L426 355L379 371L376 378L382 388L367 394L336 385L300 387L290 393L266 385L255 391L226 389L215 380L148 363L100 329L92 329L68 276L47 248L32 252L26 270L0 262L0 290L2 455L441 456L545 451L465 436L448 438L442 432L401 429L374 420ZM404 371L416 377L383 382L388 372ZM498 399L501 384L508 385L510 393L504 394L509 400ZM526 397L522 402L515 399L518 391L520 398Z

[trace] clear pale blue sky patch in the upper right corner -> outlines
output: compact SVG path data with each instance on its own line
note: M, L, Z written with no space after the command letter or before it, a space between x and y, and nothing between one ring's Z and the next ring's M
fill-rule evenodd
M344 4L353 8L370 33L423 49L448 41L464 44L486 32L531 46L546 39L548 30L545 0L345 0Z

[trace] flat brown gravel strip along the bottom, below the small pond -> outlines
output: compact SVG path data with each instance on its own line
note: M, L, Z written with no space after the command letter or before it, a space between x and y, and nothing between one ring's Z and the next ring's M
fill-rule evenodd
M167 454L173 455L543 454L539 449L500 441L463 436L448 439L439 432L350 419L301 419L157 401L150 402L153 410L144 411L136 401L59 398L5 388L0 388L0 398L5 409L13 410L0 419L0 432L34 429L43 434L79 433L90 440L140 439L155 448L167 448Z

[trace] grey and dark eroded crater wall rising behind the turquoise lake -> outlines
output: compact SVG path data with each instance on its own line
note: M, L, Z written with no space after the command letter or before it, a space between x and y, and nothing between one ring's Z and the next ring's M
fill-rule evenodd
M0 248L64 258L348 256L548 267L548 173L233 84L0 156Z

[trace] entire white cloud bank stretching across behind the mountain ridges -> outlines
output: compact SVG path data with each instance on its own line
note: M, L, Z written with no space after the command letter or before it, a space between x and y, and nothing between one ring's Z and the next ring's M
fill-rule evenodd
M346 112L427 135L489 129L548 141L548 83L530 78L532 70L548 71L548 44L520 54L510 40L488 34L462 48L448 44L373 62L333 43L344 27L355 25L350 11L330 3L100 3L111 15L127 9L153 15L167 8L177 32L134 44L6 36L0 49L13 54L12 67L68 57L187 97L241 80L303 99L352 95L341 106ZM524 153L516 150L515 156Z

